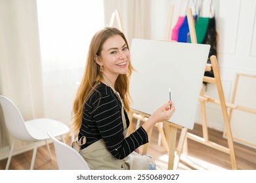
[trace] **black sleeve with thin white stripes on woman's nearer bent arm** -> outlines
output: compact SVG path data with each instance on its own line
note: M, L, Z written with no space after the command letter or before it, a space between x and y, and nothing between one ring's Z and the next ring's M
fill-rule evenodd
M100 102L93 110L93 118L108 150L117 159L123 159L139 146L147 143L148 135L142 127L139 127L137 131L125 138L121 120L121 103L108 86L100 93ZM128 120L127 114L125 117Z

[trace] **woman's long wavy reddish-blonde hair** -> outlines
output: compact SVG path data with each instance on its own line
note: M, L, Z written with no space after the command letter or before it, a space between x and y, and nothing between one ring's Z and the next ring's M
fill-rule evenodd
M115 27L105 27L104 29L98 31L91 40L85 65L85 71L83 73L83 78L77 90L77 95L73 105L74 117L71 127L72 131L75 133L77 133L81 128L83 105L85 101L87 101L93 91L96 91L95 82L103 79L102 72L100 72L100 66L95 61L95 56L100 56L104 42L106 42L108 38L113 37L114 35L120 35L125 41L127 49L129 50L129 45L125 35L123 35L123 33ZM129 94L129 80L133 70L134 69L130 61L128 72L125 75L119 75L115 83L115 90L119 92L121 98L123 99L124 108L127 112L129 112L130 104L132 102L131 96Z

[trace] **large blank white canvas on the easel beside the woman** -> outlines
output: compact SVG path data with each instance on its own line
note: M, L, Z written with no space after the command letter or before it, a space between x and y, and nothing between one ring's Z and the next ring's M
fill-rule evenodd
M131 63L131 108L152 114L171 100L175 114L169 122L193 129L203 74L209 55L208 44L133 39Z

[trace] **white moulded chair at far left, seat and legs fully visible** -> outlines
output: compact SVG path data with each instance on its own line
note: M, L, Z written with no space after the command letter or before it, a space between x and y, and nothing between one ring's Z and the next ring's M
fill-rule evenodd
M5 169L9 169L9 165L12 158L12 152L14 150L15 140L18 139L20 141L33 142L33 156L32 162L30 165L30 169L33 169L35 163L35 156L37 153L37 142L45 141L47 145L47 149L49 152L49 156L51 158L51 151L49 148L49 144L47 143L47 139L50 139L47 135L47 131L51 131L51 133L56 136L62 136L64 141L64 135L70 131L70 128L63 124L62 122L58 122L56 120L52 120L49 118L37 118L34 120L24 121L20 111L12 103L10 99L0 95L0 105L3 110L3 116L5 119L5 124L7 129L10 131L11 135L14 137L11 145L11 150L9 154L9 158L7 161L7 165Z

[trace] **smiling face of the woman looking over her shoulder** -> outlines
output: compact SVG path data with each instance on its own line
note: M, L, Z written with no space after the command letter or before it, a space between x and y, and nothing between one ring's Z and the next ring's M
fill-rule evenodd
M125 75L128 71L130 52L123 38L114 35L104 42L100 52L98 64L103 65L103 73L111 80L118 75Z

